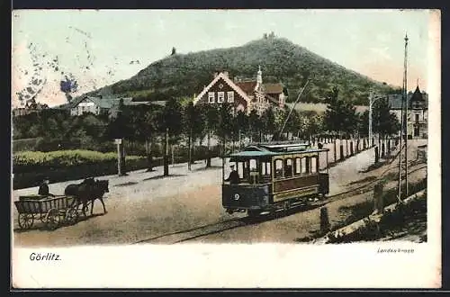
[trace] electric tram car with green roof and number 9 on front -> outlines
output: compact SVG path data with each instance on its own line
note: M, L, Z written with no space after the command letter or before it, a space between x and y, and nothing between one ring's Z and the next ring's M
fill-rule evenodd
M288 211L293 203L326 199L328 152L309 143L281 143L249 145L230 154L222 162L223 208L229 214L247 211L254 217L266 211Z

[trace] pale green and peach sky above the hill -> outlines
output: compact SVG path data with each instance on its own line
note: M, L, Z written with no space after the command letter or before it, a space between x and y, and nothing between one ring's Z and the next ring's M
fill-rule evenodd
M428 85L427 10L15 10L12 104L36 94L49 106L134 76L177 53L241 46L275 36L391 85L402 85L408 34L408 89ZM28 87L28 89L27 89Z

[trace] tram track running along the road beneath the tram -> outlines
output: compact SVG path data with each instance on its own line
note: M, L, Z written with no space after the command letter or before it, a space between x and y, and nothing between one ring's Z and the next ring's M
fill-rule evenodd
M401 148L401 150L403 150L403 149L404 149L404 147ZM296 203L293 205L301 205L302 211L309 211L309 210L327 205L330 202L336 202L338 200L345 199L348 196L371 192L371 191L373 191L374 184L380 182L385 177L385 175L387 175L392 169L395 168L394 166L392 166L392 164L398 159L399 155L400 155L400 151L397 152L394 155L394 157L392 157L392 159L389 161L389 163L387 163L387 165L389 167L386 168L383 171L383 173L381 175L379 175L373 181L370 181L361 186L357 186L354 189L349 189L349 190L341 192L341 193L336 193L334 195L330 195L327 197L326 200L311 202L306 205L304 205L304 204L302 205L299 203ZM427 167L427 165L413 168L412 170L409 171L409 174L419 171L425 167ZM234 219L230 219L230 220L221 220L218 222L195 227L192 229L184 229L184 230L180 230L180 231L175 231L175 232L158 235L158 236L152 237L152 238L140 239L138 241L133 242L132 244L142 244L142 243L176 244L176 243L182 243L182 242L186 242L189 240L202 238L202 237L209 236L212 234L224 232L229 229L237 229L237 228L249 226L252 224L257 224L257 223L261 223L261 222L265 222L265 221L279 219L281 217L286 217L286 216L292 215L294 213L298 213L299 211L300 211L300 207L297 206L297 207L293 207L289 211L275 211L275 213L269 213L269 214L261 215L261 216L255 217L255 218L250 218L250 217L246 216L246 217L234 218Z

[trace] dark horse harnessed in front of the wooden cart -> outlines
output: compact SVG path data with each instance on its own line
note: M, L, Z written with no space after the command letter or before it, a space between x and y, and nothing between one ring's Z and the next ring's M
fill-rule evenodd
M94 177L86 178L80 184L68 184L64 194L67 196L74 196L74 202L76 205L83 204L83 214L88 208L87 202L92 202L91 215L94 212L94 201L99 199L103 205L103 213L106 213L106 208L103 202L103 194L109 192L108 180L95 180Z

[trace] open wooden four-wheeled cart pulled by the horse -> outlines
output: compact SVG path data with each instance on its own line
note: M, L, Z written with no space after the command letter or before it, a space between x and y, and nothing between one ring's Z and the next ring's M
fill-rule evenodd
M57 229L62 224L73 224L78 220L78 204L73 196L20 196L14 202L19 212L19 227L30 229L34 220L40 220L49 229Z

